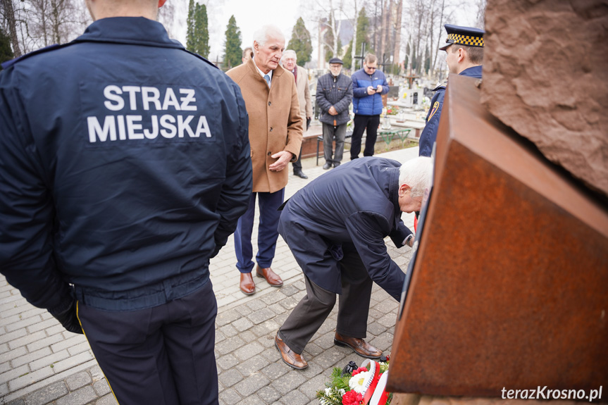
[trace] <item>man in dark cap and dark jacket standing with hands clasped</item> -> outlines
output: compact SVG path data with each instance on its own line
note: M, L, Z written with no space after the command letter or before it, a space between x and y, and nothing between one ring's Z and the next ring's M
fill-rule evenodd
M331 58L330 73L318 78L316 85L316 105L321 109L319 120L323 123L324 170L340 166L344 153L346 125L350 120L348 108L352 101L352 80L342 75L342 59ZM333 139L335 138L335 153ZM332 158L333 155L333 158Z

